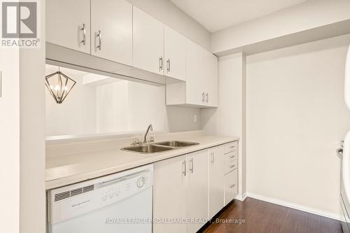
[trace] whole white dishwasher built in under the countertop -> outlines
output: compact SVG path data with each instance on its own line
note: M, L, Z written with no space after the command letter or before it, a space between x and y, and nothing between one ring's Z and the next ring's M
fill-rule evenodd
M151 233L153 165L48 192L49 233Z

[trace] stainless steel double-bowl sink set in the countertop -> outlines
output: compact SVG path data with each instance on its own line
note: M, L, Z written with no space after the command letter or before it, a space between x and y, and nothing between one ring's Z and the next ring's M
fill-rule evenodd
M198 144L200 143L193 141L162 141L160 143L146 143L136 146L127 146L122 148L122 150L140 154L152 154L167 150L174 150L176 148L183 148L186 146L195 146Z

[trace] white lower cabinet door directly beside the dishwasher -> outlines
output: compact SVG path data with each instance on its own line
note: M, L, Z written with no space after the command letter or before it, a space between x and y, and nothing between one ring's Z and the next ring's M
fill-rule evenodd
M153 218L186 218L186 155L154 165ZM186 223L153 224L153 233L186 233Z

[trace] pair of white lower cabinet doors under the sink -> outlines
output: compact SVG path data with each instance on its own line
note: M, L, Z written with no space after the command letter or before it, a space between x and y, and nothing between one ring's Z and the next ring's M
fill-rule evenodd
M200 230L208 218L208 150L155 163L153 190L155 220L189 221L154 223L153 233Z

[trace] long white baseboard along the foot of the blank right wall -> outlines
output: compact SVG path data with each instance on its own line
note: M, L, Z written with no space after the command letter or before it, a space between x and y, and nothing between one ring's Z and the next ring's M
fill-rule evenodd
M276 198L272 198L272 197L265 197L262 195L256 195L254 193L251 192L246 192L246 197L251 197L253 199L258 199L264 202L269 202L269 203L273 203L273 204L277 204L280 206L286 206L292 209L297 209L299 211L304 211L304 212L308 212L308 213L314 213L318 216L323 216L326 218L332 218L335 220L339 220L339 221L344 221L344 216L337 214L337 213L329 213L329 212L325 212L325 211L321 211L319 209L313 209L313 208L309 208L307 206L302 206L300 204L295 204L292 202L284 202L280 199L276 199Z

